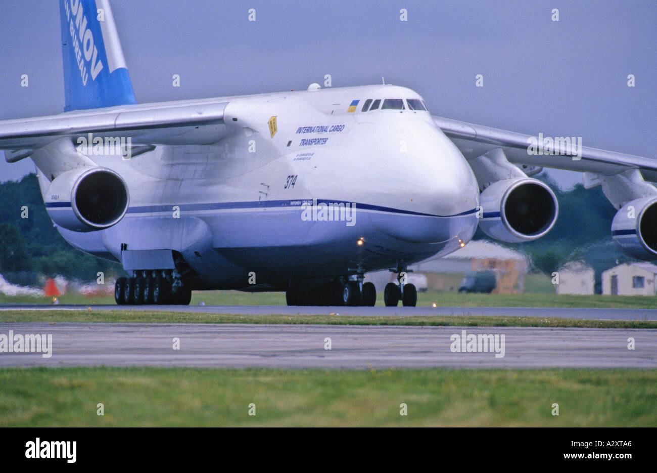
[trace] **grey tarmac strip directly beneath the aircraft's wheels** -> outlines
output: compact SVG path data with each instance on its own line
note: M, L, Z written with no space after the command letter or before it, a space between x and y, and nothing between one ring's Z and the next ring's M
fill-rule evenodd
M211 314L344 314L357 316L475 315L584 318L599 320L657 320L657 309L590 307L288 307L286 305L30 305L2 304L1 311L175 311Z

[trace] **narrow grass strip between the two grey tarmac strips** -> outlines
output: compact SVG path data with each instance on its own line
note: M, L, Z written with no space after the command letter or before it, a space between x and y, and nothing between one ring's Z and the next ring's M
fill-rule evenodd
M344 312L349 312L348 307ZM301 309L302 310L302 309ZM328 312L328 311L327 311ZM655 320L595 320L560 317L478 315L351 316L344 312L304 314L207 314L166 311L0 311L0 322L112 322L199 324L419 325L467 327L657 328Z

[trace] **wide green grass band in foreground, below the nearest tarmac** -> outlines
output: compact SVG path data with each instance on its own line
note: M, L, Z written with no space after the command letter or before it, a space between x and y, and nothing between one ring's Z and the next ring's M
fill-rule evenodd
M657 426L657 370L8 368L0 386L0 426Z

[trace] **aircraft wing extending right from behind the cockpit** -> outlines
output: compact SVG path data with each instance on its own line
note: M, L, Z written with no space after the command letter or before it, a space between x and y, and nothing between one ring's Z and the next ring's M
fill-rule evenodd
M590 172L600 176L611 176L627 170L638 169L645 180L657 182L657 159L625 155L587 146L570 146L566 147L566 152L562 154L551 154L549 149L543 149L543 144L546 143L545 139L541 140L536 136L440 116L432 118L468 160L481 156L491 149L502 148L509 162L514 164ZM578 142L577 137L569 137L569 139L575 141L576 144ZM532 143L536 144L535 153L530 152Z

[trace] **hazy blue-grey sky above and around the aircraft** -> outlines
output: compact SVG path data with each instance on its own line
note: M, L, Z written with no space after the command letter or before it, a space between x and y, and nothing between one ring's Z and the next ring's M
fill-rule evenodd
M325 74L334 87L384 76L415 89L435 115L657 159L652 0L111 3L141 103L306 89ZM56 1L1 3L1 120L62 112L59 25ZM0 158L2 181L33 170ZM564 187L581 179L552 175Z

